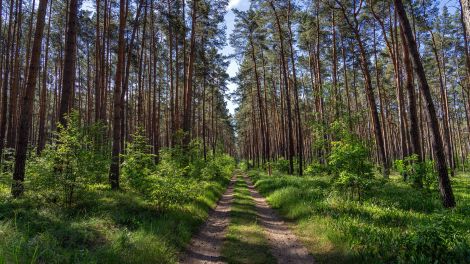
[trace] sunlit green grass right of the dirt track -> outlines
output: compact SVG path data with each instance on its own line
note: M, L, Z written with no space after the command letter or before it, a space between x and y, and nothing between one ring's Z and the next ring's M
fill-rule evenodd
M329 176L249 174L318 263L470 263L468 174L452 179L453 210L436 190L414 189L397 175L377 180L358 202Z

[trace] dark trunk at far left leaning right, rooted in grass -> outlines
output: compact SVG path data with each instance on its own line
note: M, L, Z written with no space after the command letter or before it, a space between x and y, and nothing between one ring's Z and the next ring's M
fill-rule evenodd
M11 193L13 197L23 194L24 173L26 154L28 150L28 137L31 124L31 115L34 103L34 91L36 89L39 63L41 59L41 42L44 32L44 22L46 18L47 0L40 0L38 7L38 17L36 21L36 31L34 33L33 48L31 51L31 62L29 64L28 80L23 94L21 105L20 123L18 131L18 146L15 156L15 171L13 172L13 183Z

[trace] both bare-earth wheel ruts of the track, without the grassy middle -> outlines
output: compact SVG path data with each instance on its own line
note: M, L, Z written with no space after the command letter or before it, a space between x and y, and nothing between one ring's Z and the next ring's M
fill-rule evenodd
M230 209L234 200L233 192L237 174L239 173L235 172L227 191L199 233L192 238L186 252L180 258L180 263L224 263L221 249L227 227L230 224ZM264 235L271 247L271 254L277 259L277 262L280 264L314 263L314 259L307 249L271 209L266 199L255 190L248 176L245 174L243 178L255 202L258 224L263 227Z

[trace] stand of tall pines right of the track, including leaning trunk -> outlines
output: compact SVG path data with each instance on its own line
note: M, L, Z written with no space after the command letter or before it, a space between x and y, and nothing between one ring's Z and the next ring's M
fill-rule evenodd
M306 163L312 171L327 166L338 124L345 124L369 142L384 176L393 160L433 160L444 205L452 207L443 168L466 168L470 151L465 11L450 14L437 1L405 5L412 51L396 3L297 4L257 1L235 11L240 154L254 166L271 161L301 174ZM413 175L415 186L422 177Z

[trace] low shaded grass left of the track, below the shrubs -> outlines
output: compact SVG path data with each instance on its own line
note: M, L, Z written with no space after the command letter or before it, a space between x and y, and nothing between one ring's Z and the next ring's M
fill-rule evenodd
M0 178L0 263L176 263L227 184L207 183L198 198L165 210L97 185L65 210L31 191L12 199Z

